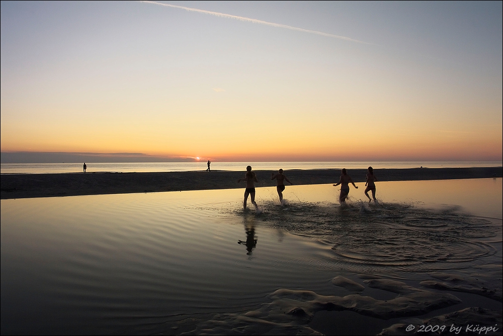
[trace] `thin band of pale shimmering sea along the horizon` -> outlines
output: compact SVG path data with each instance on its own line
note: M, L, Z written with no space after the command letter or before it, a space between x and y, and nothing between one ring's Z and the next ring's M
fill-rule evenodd
M200 162L86 162L87 172L169 172L198 171L207 169L207 161ZM288 169L366 169L379 168L466 168L501 167L502 161L441 162L441 161L379 161L379 162L211 162L212 170L245 171L250 165L254 170ZM82 163L2 163L2 174L75 173L82 171Z

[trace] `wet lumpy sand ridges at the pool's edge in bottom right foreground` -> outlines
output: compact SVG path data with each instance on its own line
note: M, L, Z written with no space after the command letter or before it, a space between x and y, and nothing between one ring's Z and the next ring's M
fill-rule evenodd
M357 284L341 276L336 278L338 278L337 282L340 284ZM362 278L365 278L365 275L362 275ZM190 331L181 334L319 335L321 333L313 329L316 328L316 325L311 323L316 312L345 310L382 320L403 318L403 321L384 328L379 333L382 335L415 334L421 325L429 324L445 325L445 327L454 324L458 327L463 326L463 328L466 328L466 326L475 327L476 324L484 327L501 326L501 312L477 307L468 307L427 319L413 318L411 316L456 305L461 300L451 294L415 288L403 282L384 278L365 280L363 284L368 287L397 293L398 295L391 300L376 300L360 294L351 294L344 297L324 296L308 290L279 289L268 296L269 300L271 300L270 303L265 303L257 309L242 313L208 316L208 318L200 319L197 323L194 323ZM363 285L360 286L363 287ZM333 321L333 323L338 323L338 321ZM180 321L180 324L185 323ZM188 325L185 325L185 328L187 327ZM407 330L407 327L409 329L413 327L414 330ZM491 332L491 330L487 334L497 334L498 332L497 330ZM421 332L421 334L438 333ZM461 334L477 333L462 332Z

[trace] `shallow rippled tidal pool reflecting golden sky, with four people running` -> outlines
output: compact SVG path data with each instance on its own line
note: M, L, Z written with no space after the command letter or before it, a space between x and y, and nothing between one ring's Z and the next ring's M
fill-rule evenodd
M425 281L478 274L471 288L499 292L451 288L459 302L403 316L501 310L501 178L378 182L379 206L358 185L346 209L331 185L287 186L287 207L274 187L257 188L260 215L242 213L242 189L1 200L2 333L270 331L236 324L258 309L280 333L371 334L400 320L321 309L292 324L267 306L287 291L351 294L338 276L387 301L396 294L363 281L440 295Z

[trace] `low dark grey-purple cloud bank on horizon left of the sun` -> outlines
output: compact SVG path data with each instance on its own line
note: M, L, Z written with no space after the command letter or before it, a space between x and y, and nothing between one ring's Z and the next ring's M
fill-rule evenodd
M1 163L73 162L194 162L192 158L170 158L143 153L1 152Z

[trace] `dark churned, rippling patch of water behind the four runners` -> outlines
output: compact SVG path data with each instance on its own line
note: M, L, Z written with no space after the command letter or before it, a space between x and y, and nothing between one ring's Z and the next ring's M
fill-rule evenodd
M363 201L342 207L302 203L289 211L264 205L263 221L332 245L328 268L354 272L432 272L463 268L496 253L489 244L500 225L456 209L425 210ZM496 239L497 240L497 239ZM324 265L326 268L327 265Z

